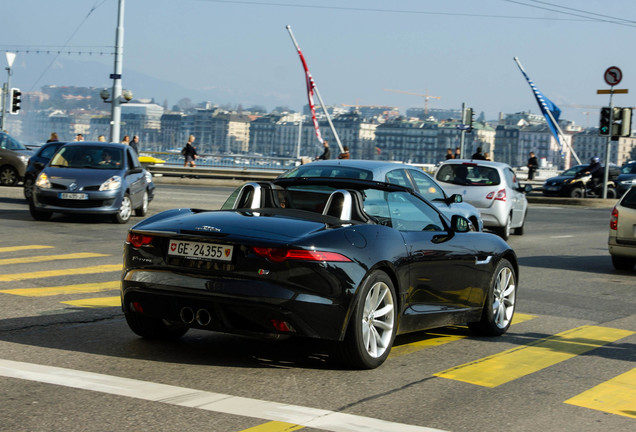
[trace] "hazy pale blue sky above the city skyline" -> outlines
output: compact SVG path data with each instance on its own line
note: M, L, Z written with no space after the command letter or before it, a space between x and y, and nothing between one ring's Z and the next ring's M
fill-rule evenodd
M113 52L118 0L1 4L0 50L19 51L12 86L112 86L113 56L97 53ZM615 105L636 105L634 0L126 0L123 87L143 76L152 85L137 84L135 96L159 103L177 102L168 90L176 84L194 102L301 109L304 76L287 24L329 105L424 106L421 96L383 90L397 89L440 96L431 108L466 102L488 119L539 113L514 56L562 118L597 124L609 66L623 71L617 88L630 90ZM24 52L61 47L83 54ZM91 75L76 82L84 67Z

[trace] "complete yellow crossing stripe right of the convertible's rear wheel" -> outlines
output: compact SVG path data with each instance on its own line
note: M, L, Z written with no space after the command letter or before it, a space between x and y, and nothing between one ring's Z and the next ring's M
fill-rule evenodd
M609 327L578 327L434 375L497 387L632 334Z

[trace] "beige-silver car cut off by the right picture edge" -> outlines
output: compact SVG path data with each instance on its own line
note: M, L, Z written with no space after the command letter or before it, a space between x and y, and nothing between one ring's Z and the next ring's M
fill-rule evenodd
M608 240L612 264L631 270L636 264L636 186L632 186L612 210Z

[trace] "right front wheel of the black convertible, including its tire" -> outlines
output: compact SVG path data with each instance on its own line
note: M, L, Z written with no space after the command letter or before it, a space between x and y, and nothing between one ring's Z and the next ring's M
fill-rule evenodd
M501 336L510 327L515 312L517 277L507 259L502 259L490 280L486 301L477 322L468 323L470 330L480 336Z

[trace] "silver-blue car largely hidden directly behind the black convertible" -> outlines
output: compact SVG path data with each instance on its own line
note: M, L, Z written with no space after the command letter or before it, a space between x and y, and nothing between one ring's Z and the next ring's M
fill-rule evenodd
M301 165L281 177L335 177L398 184L419 192L449 219L454 214L464 216L472 223L475 231L482 231L484 226L479 210L462 202L461 195L448 196L431 176L413 165L385 161L333 159Z

